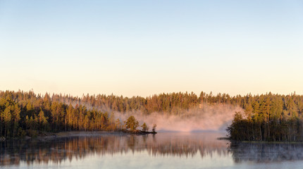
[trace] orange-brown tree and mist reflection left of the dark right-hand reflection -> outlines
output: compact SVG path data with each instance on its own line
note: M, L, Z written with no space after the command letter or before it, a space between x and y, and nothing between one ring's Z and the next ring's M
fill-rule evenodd
M99 137L62 137L48 141L0 142L0 166L25 162L61 163L89 155L134 154L147 151L149 156L189 157L200 154L228 154L228 142L218 133L159 133L156 135L105 134Z

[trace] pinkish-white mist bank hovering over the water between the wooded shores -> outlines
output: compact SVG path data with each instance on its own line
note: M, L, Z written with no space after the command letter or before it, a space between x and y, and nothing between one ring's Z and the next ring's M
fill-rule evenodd
M225 132L232 123L236 111L243 111L239 106L233 105L204 105L180 111L178 115L169 115L161 112L144 114L140 111L120 113L115 112L115 117L124 121L134 115L140 123L148 126L157 125L160 132L197 132L219 131Z

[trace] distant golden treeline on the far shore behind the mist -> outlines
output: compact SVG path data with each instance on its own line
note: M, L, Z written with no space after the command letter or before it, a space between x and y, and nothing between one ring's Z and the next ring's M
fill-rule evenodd
M98 94L92 96L87 94L82 95L81 98L67 94L52 94L51 96L50 94L44 94L44 97L49 98L51 101L72 104L73 106L81 104L99 110L118 111L122 113L140 111L145 114L159 112L175 115L183 113L184 110L202 106L203 104L232 104L235 106L243 106L245 102L245 98L240 95L230 96L229 94L217 94L215 96L212 93L206 94L205 92L201 92L199 96L193 92L173 92L169 94L154 94L145 98L142 96L123 97L113 94Z

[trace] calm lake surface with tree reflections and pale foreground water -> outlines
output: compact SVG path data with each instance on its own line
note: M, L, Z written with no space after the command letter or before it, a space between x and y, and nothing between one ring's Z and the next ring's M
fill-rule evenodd
M303 144L218 140L218 132L103 134L0 142L0 168L303 168Z

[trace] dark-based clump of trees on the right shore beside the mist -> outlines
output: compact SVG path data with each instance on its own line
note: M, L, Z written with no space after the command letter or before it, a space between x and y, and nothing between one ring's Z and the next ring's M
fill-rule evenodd
M266 94L247 97L244 112L236 112L228 127L240 141L303 142L303 96Z

